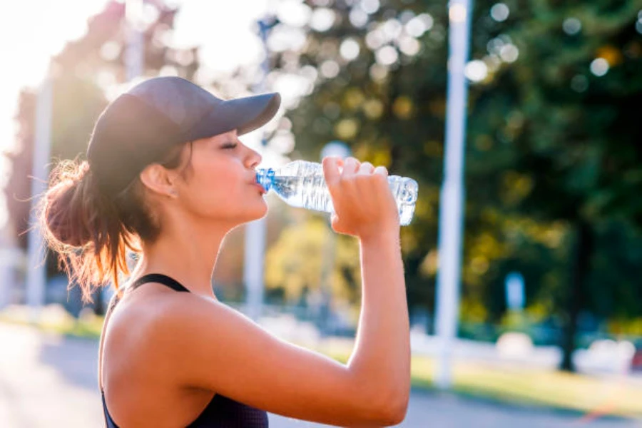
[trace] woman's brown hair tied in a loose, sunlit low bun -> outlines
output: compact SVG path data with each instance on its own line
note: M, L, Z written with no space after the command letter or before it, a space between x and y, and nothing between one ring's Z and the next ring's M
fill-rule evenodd
M181 175L191 164L190 155ZM168 153L160 164L180 166L183 148ZM38 223L49 248L58 253L58 268L70 284L78 284L83 301L109 282L120 294L121 275L129 275L128 253L141 253L141 243L153 243L161 232L140 177L115 197L101 192L87 161L61 161L49 178L39 203ZM71 285L70 285L71 286Z

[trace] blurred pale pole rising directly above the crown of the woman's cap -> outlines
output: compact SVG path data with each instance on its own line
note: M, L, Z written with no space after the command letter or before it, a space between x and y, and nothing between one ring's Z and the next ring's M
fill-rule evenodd
M127 0L125 4L125 23L127 48L125 51L125 69L127 81L143 74L145 67L145 46L141 21L143 0Z

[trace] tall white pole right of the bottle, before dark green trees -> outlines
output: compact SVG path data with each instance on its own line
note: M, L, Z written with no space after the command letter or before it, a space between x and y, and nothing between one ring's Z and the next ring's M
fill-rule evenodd
M464 139L466 135L467 81L464 67L469 56L470 0L449 3L448 101L444 182L439 206L439 272L437 275L436 330L441 345L435 382L452 385L452 348L459 318L459 280L462 259L464 207Z

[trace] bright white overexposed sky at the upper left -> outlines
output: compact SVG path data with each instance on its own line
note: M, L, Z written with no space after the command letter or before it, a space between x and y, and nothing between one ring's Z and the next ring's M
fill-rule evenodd
M213 71L256 64L263 51L253 26L268 7L273 7L270 1L167 0L167 4L180 6L172 44L201 46L200 60ZM106 3L107 0L20 0L4 6L6 19L0 26L0 49L4 61L10 61L11 66L3 68L0 79L0 153L14 145L13 118L20 89L39 86L49 58L58 54L67 41L82 37L88 17L101 11ZM8 173L9 165L0 156L0 188ZM5 223L5 203L0 200L0 228Z

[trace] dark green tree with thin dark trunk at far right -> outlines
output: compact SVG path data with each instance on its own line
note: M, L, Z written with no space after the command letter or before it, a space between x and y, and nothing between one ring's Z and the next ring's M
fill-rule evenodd
M579 313L595 309L589 303L598 290L588 287L598 275L593 262L606 250L597 247L598 229L618 219L642 224L632 191L642 177L642 132L634 113L642 93L642 44L635 26L640 5L527 6L514 8L519 12L506 23L503 39L477 46L478 55L490 46L489 58L519 52L519 60L490 73L474 91L472 138L494 130L502 146L497 152L512 164L507 173L513 185L526 183L524 195L506 208L563 222L573 237L569 288L558 302L566 318L562 368L572 370ZM496 156L480 152L477 165ZM633 280L634 272L625 273L630 279L624 281Z

